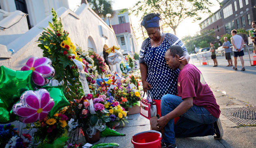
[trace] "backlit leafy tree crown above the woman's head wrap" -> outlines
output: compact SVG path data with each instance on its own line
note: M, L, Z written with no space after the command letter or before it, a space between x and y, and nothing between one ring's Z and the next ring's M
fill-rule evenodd
M139 0L131 9L131 13L135 13L136 16L159 13L164 26L170 27L176 35L176 28L185 18L201 20L199 13L211 14L209 8L212 6L210 0Z

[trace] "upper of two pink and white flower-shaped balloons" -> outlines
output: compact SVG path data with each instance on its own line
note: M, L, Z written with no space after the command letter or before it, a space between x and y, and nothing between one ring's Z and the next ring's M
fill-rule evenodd
M47 78L53 77L55 69L52 67L52 61L49 58L31 57L26 65L21 68L22 71L32 70L33 82L38 86L44 86L49 83Z

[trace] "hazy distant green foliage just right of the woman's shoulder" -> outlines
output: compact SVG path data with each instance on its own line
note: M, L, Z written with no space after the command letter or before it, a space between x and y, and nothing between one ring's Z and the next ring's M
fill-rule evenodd
M213 30L205 30L200 34L197 34L191 37L185 36L181 40L185 45L185 47L187 48L188 52L194 52L194 45L199 48L209 47L210 43L214 42L215 40L215 32ZM191 42L191 47L190 47L190 42Z

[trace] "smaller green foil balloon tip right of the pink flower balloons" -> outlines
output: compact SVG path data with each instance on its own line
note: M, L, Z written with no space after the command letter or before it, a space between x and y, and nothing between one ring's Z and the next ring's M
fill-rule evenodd
M54 106L51 111L48 113L49 117L52 117L59 109L62 109L65 106L68 106L70 103L66 99L63 93L62 86L45 86L43 87L50 93L50 97L54 100Z

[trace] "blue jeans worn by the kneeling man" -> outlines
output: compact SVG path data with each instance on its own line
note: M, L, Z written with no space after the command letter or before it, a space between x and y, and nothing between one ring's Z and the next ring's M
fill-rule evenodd
M183 100L175 95L164 95L161 99L161 116L173 111ZM214 134L213 123L217 120L203 106L193 105L174 125L171 119L164 127L165 143L175 143L175 137L208 136Z

